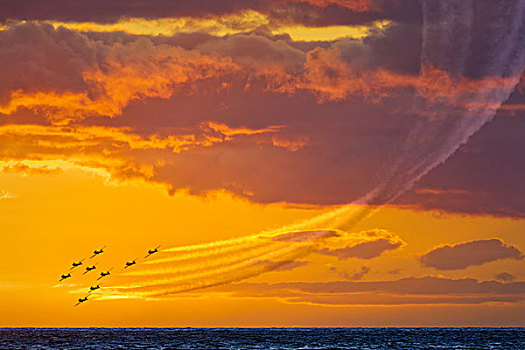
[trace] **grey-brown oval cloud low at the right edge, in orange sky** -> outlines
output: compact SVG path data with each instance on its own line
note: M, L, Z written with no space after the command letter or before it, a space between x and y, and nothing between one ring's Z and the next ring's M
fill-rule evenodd
M500 239L485 239L435 247L419 261L438 270L458 270L500 259L521 260L523 256L517 247Z

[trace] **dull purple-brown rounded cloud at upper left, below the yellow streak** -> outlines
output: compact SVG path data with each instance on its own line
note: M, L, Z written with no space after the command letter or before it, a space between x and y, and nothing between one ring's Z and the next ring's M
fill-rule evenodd
M10 92L86 89L82 72L99 67L109 47L64 28L27 23L0 32L0 102Z

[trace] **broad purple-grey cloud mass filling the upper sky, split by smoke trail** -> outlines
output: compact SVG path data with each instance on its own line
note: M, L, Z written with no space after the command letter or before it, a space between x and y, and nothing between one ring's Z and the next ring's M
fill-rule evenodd
M316 45L327 49L315 51ZM361 96L358 90L357 95L345 96L345 100L319 103L319 96L312 91L276 91L260 74L265 70L273 74L270 68L277 66L285 74L302 76L310 51L310 67L318 69L327 80L327 85L320 88L337 87L330 84L344 82L341 72L349 68L355 70L355 75L348 76L347 81L376 69L410 77L419 71L420 46L419 26L410 23L396 23L364 42L344 39L322 45L299 44L264 32L225 38L207 34L154 38L123 33L80 34L49 25L23 24L0 32L0 63L4 67L0 107L17 90L85 94L87 101L94 103L84 103L82 108L92 108L100 101L115 102L117 108L109 111L114 118L81 111L85 119L79 126L115 127L127 133L133 130L142 139L186 135L195 140L181 153L173 152L168 142L154 151L133 149L129 143L114 150L114 154L125 154L127 163L134 162L132 168L150 168L148 180L166 184L172 193L189 189L194 194L205 194L226 188L254 202L343 204L381 182L392 160L392 150L404 142L416 120L407 107L412 105L413 93L403 90L374 100ZM339 56L332 56L337 51ZM196 61L197 56L204 59ZM213 60L207 61L209 57ZM133 68L141 72L139 78L145 78L158 73L153 69L157 63L169 68L171 63L190 58L193 62L188 66L176 68L192 78L205 77L214 69L220 72L217 78L204 78L197 83L200 85L193 86L199 87L199 94L192 93L191 84L170 80L174 75L169 69L155 75L164 82L162 85L130 91L127 101L116 101L115 94L111 94L111 84L126 77L121 68ZM218 66L210 66L217 62ZM242 67L242 72L223 69L232 65ZM86 81L86 71L100 72L111 79L103 84ZM165 97L173 91L177 93ZM508 103L524 101L517 89ZM45 108L39 106L22 108L3 115L0 123L48 125L49 120L42 117L44 112ZM525 217L525 188L521 186L525 166L520 158L525 152L525 118L521 118L523 111L513 113L510 117L509 111L500 111L468 144L425 176L415 191L395 203L422 210ZM209 121L231 128L281 128L278 132L228 136L206 127ZM27 148L21 145L24 140ZM59 137L53 140L57 145L64 141ZM20 149L30 149L34 157L57 154L31 137L19 136L17 144ZM60 156L81 158L82 152L100 149L111 153L108 147L104 143L83 150L62 148ZM18 151L6 146L2 152L6 160ZM19 152L16 156L23 157ZM135 174L128 170L113 169L112 174L116 178Z

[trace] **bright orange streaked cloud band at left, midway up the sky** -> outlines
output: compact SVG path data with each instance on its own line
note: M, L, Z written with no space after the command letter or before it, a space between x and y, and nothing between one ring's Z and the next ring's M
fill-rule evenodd
M171 130L165 136L143 136L128 127L3 125L0 172L51 174L77 167L114 181L158 181L154 179L156 169L170 162L174 154L280 129L232 128L208 122Z

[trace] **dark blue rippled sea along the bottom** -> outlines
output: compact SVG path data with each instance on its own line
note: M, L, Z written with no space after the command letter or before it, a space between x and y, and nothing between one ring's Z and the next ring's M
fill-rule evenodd
M3 328L0 349L525 349L525 328Z

